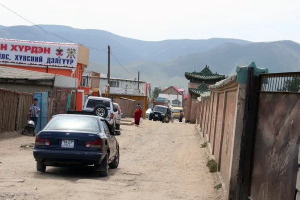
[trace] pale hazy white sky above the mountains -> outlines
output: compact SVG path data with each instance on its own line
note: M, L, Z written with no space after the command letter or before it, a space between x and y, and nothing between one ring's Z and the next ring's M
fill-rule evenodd
M300 42L300 0L0 0L35 24L142 39L239 38ZM31 25L0 6L1 25ZM67 36L67 35L63 35Z

